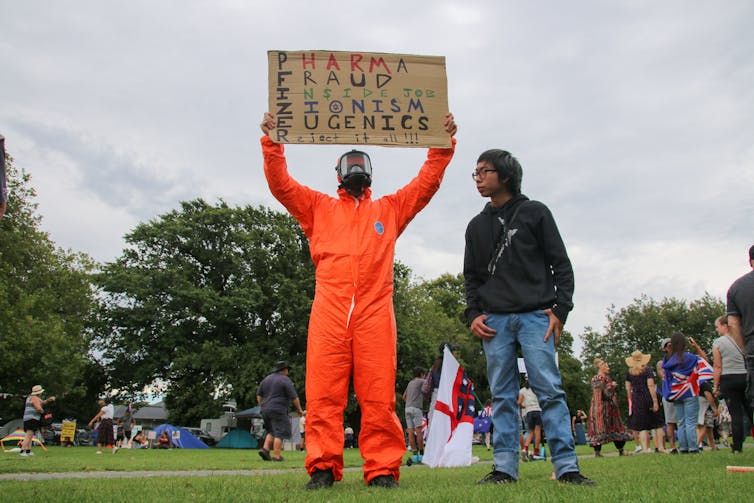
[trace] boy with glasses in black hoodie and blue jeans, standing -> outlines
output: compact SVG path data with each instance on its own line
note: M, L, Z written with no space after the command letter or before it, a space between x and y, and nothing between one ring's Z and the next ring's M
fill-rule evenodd
M495 468L479 483L518 479L518 368L521 346L555 476L595 485L579 473L555 347L573 308L573 269L550 210L521 194L521 165L488 150L472 173L490 202L466 229L466 318L482 340L492 390Z

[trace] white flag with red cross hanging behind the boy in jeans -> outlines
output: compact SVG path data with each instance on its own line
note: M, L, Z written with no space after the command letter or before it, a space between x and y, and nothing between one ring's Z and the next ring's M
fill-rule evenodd
M474 384L446 346L422 463L432 468L471 465L474 410Z

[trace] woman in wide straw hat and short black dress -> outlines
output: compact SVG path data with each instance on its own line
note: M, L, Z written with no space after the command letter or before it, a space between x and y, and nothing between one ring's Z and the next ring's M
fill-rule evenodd
M655 432L655 445L658 452L665 453L662 441L662 415L655 386L655 374L648 366L652 355L645 355L636 350L626 358L626 393L629 397L630 410L627 425L639 433L642 453L652 452L649 447L649 432Z

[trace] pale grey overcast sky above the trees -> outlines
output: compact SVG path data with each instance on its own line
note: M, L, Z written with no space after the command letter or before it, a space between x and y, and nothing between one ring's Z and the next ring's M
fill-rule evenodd
M576 335L642 294L722 299L749 270L754 2L0 0L0 12L0 134L32 175L43 228L98 261L182 200L283 211L259 146L266 52L322 49L446 58L456 155L397 248L420 277L461 272L484 203L470 173L488 148L516 155L523 192L555 215ZM346 148L286 152L295 177L334 194ZM426 150L369 153L379 196Z

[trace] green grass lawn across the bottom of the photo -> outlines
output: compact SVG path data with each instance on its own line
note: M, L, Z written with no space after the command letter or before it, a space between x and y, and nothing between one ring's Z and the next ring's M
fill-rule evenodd
M591 449L578 447L579 455ZM605 448L605 453L611 452ZM614 452L614 450L613 450ZM35 449L32 458L17 453L0 457L0 501L751 501L754 472L730 473L728 465L754 466L754 448L743 454L728 450L701 455L608 456L580 459L584 474L598 487L563 486L550 480L549 462L521 464L521 480L506 486L478 486L476 481L491 470L491 453L475 446L480 462L466 468L429 469L403 467L400 488L387 490L364 485L358 450L346 451L347 471L332 489L306 491L304 453L287 452L283 463L262 461L254 450L174 449L122 450L95 454L90 447ZM248 474L209 476L195 471L250 470ZM186 471L186 475L156 476L159 471ZM131 478L64 478L9 480L10 474L70 473L77 477L141 472Z

